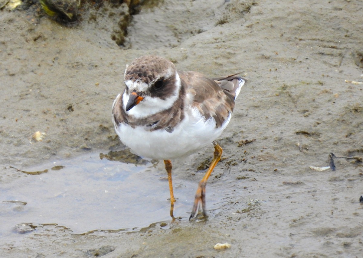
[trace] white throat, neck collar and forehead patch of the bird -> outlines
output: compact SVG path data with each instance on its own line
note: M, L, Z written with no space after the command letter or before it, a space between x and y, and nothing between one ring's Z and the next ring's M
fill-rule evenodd
M122 95L122 102L123 102L123 108L125 109L127 115L133 116L135 118L145 118L147 116L154 115L156 113L159 113L161 111L164 111L166 109L169 109L172 107L172 105L175 103L176 100L179 98L179 91L181 87L180 83L180 77L178 72L175 74L176 79L176 87L174 94L166 99L160 99L158 97L150 97L145 96L145 98L140 101L139 104L137 104L135 107L131 108L129 111L126 111L126 104L127 101L129 101L129 95L126 94L126 92ZM139 84L138 82L135 82L134 84ZM136 85L132 85L132 82L127 81L125 82L126 87L135 88ZM131 87L130 87L131 86Z

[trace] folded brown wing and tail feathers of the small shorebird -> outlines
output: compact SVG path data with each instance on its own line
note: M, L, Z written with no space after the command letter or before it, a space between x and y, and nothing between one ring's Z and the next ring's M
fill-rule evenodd
M220 127L233 111L240 77L235 74L209 79L198 72L178 73L187 94L193 96L192 107L196 107L206 120L213 117L216 128Z

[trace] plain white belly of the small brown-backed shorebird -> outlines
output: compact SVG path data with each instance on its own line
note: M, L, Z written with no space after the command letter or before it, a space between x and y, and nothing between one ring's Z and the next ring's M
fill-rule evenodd
M175 159L188 156L208 146L220 136L229 118L220 128L216 128L214 118L204 121L200 113L193 110L169 133L166 130L149 132L143 127L132 128L127 124L115 126L120 140L133 153L149 159Z

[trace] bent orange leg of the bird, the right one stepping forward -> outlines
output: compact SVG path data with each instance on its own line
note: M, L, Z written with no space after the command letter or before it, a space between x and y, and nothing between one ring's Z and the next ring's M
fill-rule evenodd
M217 165L217 163L219 162L219 160L222 157L221 146L219 146L216 141L214 141L213 144L214 144L214 153L213 153L214 157L211 162L211 166L209 166L208 171L205 173L202 180L200 180L200 182L199 182L197 192L195 193L192 214L190 215L189 220L197 214L200 204L202 206L201 208L202 208L203 216L207 216L205 214L205 186L207 185L207 180L208 180L209 176L211 175L213 169L215 168L215 166Z

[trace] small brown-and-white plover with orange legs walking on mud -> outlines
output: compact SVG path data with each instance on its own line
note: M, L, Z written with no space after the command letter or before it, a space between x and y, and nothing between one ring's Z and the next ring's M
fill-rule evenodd
M171 160L213 143L213 159L198 184L189 221L200 211L207 216L206 184L222 155L216 139L231 120L235 99L246 82L238 74L208 78L176 70L174 63L156 55L144 55L126 66L126 87L113 102L115 131L132 153L164 161L172 218L176 199Z

